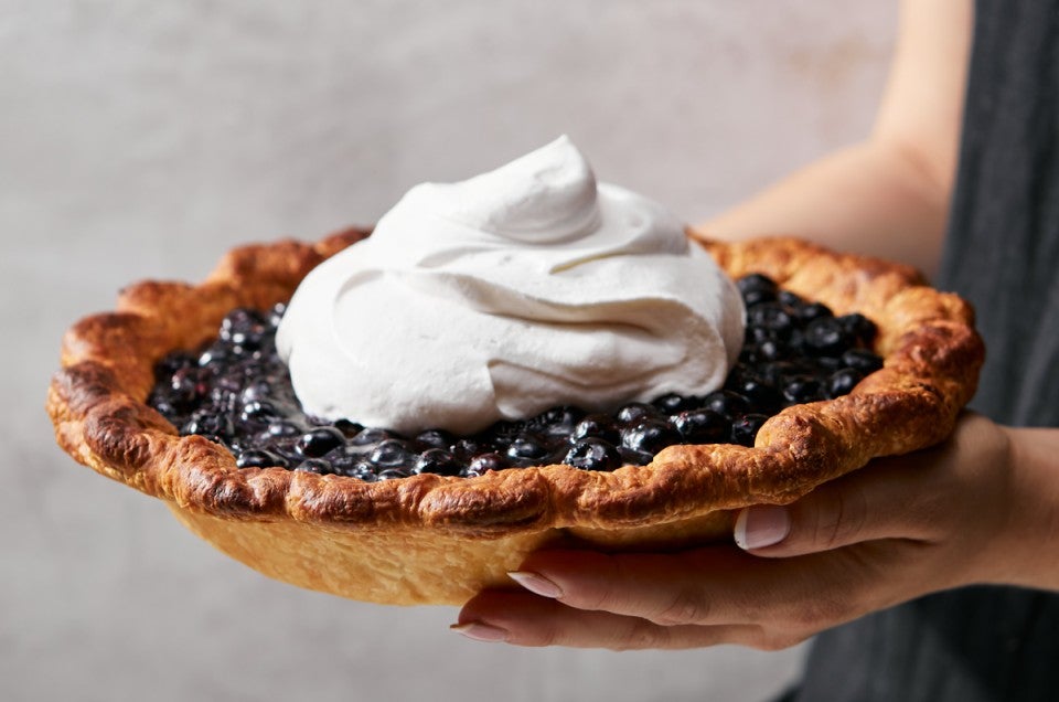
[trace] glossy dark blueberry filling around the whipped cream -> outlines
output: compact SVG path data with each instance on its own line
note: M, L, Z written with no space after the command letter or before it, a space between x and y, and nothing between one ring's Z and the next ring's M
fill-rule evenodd
M645 465L674 444L752 446L761 425L783 407L844 395L882 366L870 351L875 326L864 316L835 317L761 275L738 285L747 305L746 342L724 389L705 396L666 394L612 414L559 406L474 436L442 429L402 436L329 422L301 411L276 353L279 305L233 310L212 343L163 358L148 402L181 434L228 447L240 468L278 466L367 481L558 462L613 470Z

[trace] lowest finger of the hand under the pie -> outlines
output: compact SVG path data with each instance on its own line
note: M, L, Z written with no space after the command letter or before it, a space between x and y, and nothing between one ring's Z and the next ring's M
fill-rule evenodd
M532 647L633 650L699 648L718 644L756 648L778 648L781 645L768 640L761 627L753 625L662 626L609 611L573 609L554 599L506 591L482 593L471 599L452 628L479 641Z

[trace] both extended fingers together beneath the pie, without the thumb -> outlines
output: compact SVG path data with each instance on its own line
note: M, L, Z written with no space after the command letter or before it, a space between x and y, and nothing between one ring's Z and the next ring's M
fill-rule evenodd
M732 546L668 555L541 552L516 574L530 592L478 595L457 630L522 646L774 650L895 604L894 591L876 589L887 574L903 583L898 599L920 594L916 574L899 573L914 561L908 547L863 544L793 559Z

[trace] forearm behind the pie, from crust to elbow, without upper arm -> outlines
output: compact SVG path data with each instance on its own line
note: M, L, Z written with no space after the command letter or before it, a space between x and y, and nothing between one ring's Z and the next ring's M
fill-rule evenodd
M949 193L909 155L881 139L796 171L698 228L709 238L790 235L836 251L937 269Z

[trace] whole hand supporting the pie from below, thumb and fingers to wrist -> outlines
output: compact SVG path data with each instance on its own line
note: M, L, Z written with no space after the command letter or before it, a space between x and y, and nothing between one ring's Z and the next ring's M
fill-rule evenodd
M736 540L675 554L543 551L524 591L472 598L456 629L521 646L792 646L919 595L1016 582L1010 430L969 414L944 445L874 461L787 507L740 512Z

